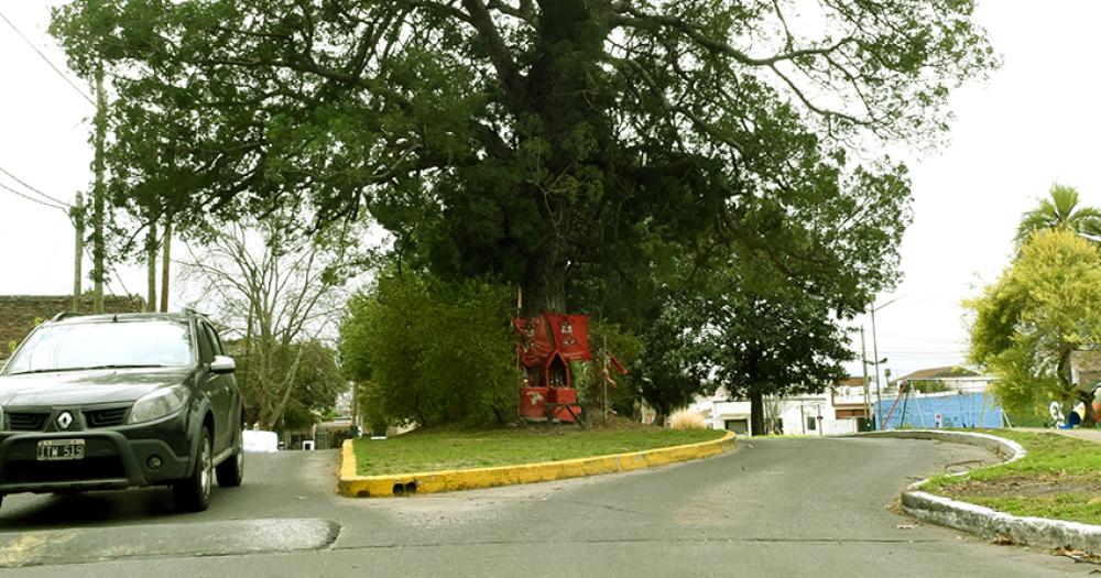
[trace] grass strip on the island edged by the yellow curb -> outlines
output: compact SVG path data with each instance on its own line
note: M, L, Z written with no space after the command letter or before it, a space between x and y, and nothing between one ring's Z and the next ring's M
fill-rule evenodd
M718 439L716 429L531 428L413 432L384 440L357 439L360 476L513 466L625 454Z

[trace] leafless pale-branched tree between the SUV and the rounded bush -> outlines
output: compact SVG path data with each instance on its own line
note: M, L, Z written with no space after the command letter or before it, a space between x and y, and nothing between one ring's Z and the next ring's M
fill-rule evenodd
M263 223L246 221L251 227L208 230L182 262L185 277L201 290L198 306L217 312L237 341L235 352L247 360L244 404L261 429L281 423L312 388L331 392L344 385L331 351L318 340L336 332L344 307L355 254L349 230L299 237L284 222L273 214ZM318 407L330 397L321 395Z

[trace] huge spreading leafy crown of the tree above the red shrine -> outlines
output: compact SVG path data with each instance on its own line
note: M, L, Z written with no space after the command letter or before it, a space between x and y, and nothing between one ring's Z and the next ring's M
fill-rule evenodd
M579 283L662 293L657 244L755 252L814 291L841 262L797 215L824 199L849 205L838 230L896 238L875 210L908 184L881 145L936 139L949 89L994 64L972 9L76 0L52 31L83 75L107 62L109 162L181 226L367 210L403 262L516 283L535 312ZM879 251L844 313L890 274Z

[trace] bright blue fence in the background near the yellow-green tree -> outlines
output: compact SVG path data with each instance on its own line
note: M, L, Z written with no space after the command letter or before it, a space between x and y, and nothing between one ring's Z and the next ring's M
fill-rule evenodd
M894 400L884 400L877 404L876 415L886 422L886 427L881 429L934 428L937 427L937 414L941 416L940 427L1002 427L1002 408L989 392L985 411L982 408L982 393L920 396L912 393L908 400L905 396L898 399L894 414L886 419L893 404Z

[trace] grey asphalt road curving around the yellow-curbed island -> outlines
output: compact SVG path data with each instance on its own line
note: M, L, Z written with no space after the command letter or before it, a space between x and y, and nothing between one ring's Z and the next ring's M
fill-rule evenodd
M628 475L353 500L334 493L336 452L249 456L244 486L200 514L173 513L165 490L8 497L0 566L36 565L0 575L1098 574L889 510L913 480L977 460L990 456L933 441L762 439Z

